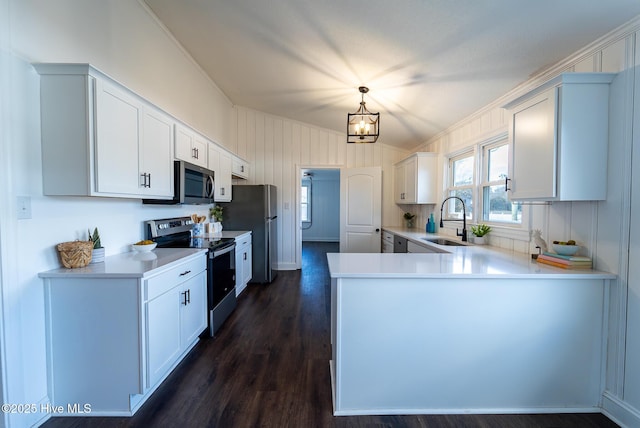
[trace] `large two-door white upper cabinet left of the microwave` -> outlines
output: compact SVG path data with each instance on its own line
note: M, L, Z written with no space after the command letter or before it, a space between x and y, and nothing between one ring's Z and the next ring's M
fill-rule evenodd
M87 64L36 64L45 195L173 196L173 120Z

